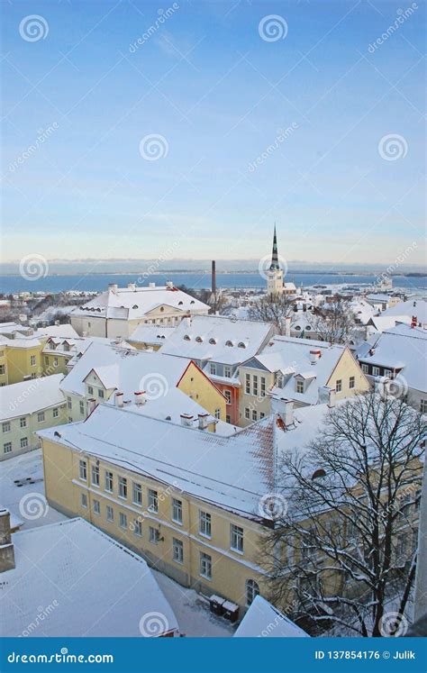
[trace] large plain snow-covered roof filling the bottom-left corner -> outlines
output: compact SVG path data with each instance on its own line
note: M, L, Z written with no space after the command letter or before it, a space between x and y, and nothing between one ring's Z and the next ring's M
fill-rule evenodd
M12 541L15 568L0 583L4 637L144 636L150 614L162 633L178 631L145 560L83 519L16 532Z

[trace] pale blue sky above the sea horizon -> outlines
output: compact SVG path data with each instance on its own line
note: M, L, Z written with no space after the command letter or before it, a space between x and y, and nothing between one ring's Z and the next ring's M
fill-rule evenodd
M20 33L32 14L44 39ZM423 14L5 3L3 259L259 259L276 221L287 260L389 263L416 242L405 263L421 264ZM270 15L283 39L262 39Z

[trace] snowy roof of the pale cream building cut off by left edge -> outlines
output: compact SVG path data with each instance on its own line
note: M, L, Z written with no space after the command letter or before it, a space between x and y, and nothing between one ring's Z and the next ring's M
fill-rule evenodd
M59 389L62 379L63 374L52 374L0 387L0 420L62 405L65 401Z

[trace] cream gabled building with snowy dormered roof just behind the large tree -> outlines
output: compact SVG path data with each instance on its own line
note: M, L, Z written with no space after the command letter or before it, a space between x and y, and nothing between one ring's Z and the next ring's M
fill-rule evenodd
M368 379L346 346L276 336L262 353L239 369L240 424L271 414L272 397L295 407L317 405L367 391Z

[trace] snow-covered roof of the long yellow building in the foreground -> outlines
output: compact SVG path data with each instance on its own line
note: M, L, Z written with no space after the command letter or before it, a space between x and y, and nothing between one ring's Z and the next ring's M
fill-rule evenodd
M327 410L326 405L297 409L288 430L271 415L223 437L98 405L86 421L39 435L242 516L259 518L260 498L275 490L278 452L311 441Z

